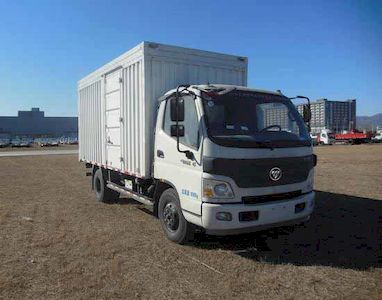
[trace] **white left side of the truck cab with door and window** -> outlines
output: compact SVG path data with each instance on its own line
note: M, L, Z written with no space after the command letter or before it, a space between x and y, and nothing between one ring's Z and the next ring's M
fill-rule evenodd
M184 96L184 136L180 137L180 149L189 150L193 158L189 159L177 150L176 137L171 136L170 101L161 103L155 136L154 176L172 184L179 195L183 212L201 216L202 203L202 141L201 114L197 100ZM187 214L184 214L187 219ZM189 220L188 220L189 221Z

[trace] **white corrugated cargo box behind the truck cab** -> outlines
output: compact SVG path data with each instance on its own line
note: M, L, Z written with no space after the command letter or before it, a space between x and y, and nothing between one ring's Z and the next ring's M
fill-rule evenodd
M247 59L143 42L78 83L79 158L151 177L158 99L180 84L247 85Z

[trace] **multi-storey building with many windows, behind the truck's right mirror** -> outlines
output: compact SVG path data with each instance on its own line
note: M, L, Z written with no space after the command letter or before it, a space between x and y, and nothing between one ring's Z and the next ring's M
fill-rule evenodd
M302 114L302 104L297 109ZM322 129L333 132L350 131L356 128L356 100L329 101L319 99L311 103L312 119L311 130L313 134Z

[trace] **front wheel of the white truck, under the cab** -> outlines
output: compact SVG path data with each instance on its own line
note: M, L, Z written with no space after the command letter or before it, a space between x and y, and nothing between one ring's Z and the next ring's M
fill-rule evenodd
M158 216L170 241L184 244L193 238L194 228L184 218L177 192L170 188L159 198Z

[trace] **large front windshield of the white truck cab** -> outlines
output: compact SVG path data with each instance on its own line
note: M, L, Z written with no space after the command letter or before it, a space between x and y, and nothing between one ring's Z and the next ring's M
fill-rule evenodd
M203 94L209 137L231 147L310 146L302 118L283 96L234 90Z

